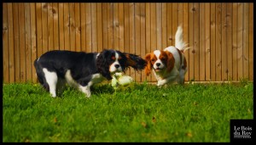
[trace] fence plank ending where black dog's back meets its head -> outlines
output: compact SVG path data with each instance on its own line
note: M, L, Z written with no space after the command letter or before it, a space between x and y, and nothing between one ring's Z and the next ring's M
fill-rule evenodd
M97 53L97 5L96 3L91 3L91 52Z

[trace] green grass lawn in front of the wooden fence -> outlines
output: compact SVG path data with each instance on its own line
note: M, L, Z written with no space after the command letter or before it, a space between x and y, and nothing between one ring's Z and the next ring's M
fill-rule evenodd
M3 142L230 142L230 120L253 119L253 82L131 90L3 84Z

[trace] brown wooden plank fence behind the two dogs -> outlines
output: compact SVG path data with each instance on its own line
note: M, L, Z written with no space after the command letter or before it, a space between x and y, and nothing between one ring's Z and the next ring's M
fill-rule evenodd
M33 60L54 49L144 57L173 45L177 25L185 81L253 81L253 3L3 3L3 82L37 82Z

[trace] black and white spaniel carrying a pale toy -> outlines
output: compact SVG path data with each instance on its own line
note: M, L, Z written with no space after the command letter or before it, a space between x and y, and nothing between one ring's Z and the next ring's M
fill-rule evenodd
M101 53L83 53L54 50L44 53L34 61L38 81L56 97L56 89L66 82L78 87L90 98L90 86L111 80L115 72L125 72L128 67L143 70L147 62L138 55L104 49Z

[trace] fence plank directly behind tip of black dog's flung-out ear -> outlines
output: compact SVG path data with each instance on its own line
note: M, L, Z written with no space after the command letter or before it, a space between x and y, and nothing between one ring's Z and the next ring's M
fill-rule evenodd
M141 46L140 46L140 50L141 52L139 53L139 55L141 57L144 57L146 55L146 24L145 24L145 20L146 20L146 3L140 3L140 8L141 8L141 24L140 24L140 30L141 30ZM142 74L142 81L144 82L146 81L146 75L144 73L144 71L141 72Z

